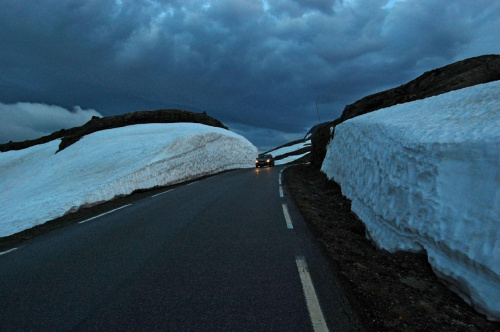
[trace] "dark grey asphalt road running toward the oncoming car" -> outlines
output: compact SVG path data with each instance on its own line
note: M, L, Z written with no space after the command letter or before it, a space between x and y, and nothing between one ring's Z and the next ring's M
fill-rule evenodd
M0 330L353 330L282 168L167 188L0 253Z

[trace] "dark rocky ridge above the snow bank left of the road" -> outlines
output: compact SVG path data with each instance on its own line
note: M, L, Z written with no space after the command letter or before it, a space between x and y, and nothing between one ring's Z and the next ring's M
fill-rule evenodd
M115 115L105 118L92 117L92 119L80 127L62 129L50 135L43 136L34 140L24 142L9 142L0 145L0 152L10 150L21 150L37 144L44 144L52 140L61 138L59 151L65 149L71 144L77 142L80 138L93 132L105 129L124 127L134 124L144 123L176 123L176 122L194 122L212 127L228 129L222 122L208 116L205 112L193 113L183 110L158 110L158 111L139 111L123 115ZM58 152L59 152L58 151Z

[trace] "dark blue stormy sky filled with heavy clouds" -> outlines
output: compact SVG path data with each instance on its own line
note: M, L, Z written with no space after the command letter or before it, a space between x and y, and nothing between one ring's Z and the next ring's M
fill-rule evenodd
M427 70L500 53L499 31L498 0L1 0L0 143L181 108L262 151L302 138L316 101L333 120Z

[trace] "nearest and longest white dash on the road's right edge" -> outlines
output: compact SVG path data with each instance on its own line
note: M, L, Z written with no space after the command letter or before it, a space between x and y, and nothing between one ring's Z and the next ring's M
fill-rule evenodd
M297 269L299 270L300 281L302 282L302 288L306 297L307 309L309 310L309 317L311 317L313 329L315 332L328 331L328 326L326 325L325 317L321 311L306 260L304 257L299 256L295 261L297 262Z

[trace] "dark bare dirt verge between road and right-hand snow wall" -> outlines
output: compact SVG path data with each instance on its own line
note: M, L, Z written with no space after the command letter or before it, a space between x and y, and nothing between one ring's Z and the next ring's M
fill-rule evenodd
M425 255L375 248L323 173L299 165L284 179L367 331L500 331L437 279Z

